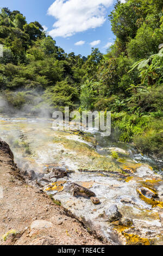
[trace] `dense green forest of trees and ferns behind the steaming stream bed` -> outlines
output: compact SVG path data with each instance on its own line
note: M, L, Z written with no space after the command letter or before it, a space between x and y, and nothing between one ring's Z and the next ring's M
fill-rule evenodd
M163 0L117 1L109 15L115 44L106 54L92 48L87 57L66 54L39 22L3 8L1 101L30 113L64 106L111 111L118 140L162 157L162 8Z

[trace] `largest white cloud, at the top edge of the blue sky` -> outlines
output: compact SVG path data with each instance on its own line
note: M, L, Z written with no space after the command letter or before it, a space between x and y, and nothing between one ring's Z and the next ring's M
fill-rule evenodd
M57 21L49 35L66 38L77 32L100 27L107 18L106 8L113 3L114 0L55 0L48 14Z

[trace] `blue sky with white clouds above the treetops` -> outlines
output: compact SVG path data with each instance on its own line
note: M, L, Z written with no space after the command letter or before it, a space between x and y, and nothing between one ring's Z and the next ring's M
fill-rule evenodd
M0 8L19 10L27 22L39 21L65 52L103 53L114 42L108 15L116 0L1 0ZM121 2L124 2L122 0Z

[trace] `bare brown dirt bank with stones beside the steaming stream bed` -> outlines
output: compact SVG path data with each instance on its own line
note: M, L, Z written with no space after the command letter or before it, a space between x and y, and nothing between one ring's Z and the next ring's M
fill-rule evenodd
M0 245L103 245L62 206L27 185L13 159L0 141L0 237L12 229L19 232L0 239Z

